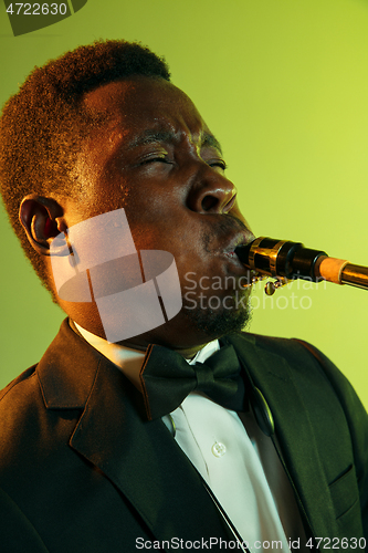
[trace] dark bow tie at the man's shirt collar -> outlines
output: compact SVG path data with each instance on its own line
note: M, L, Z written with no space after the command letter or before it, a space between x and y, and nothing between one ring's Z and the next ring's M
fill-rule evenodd
M232 345L221 347L206 363L189 365L177 352L149 346L140 371L140 383L149 420L174 411L193 390L203 392L215 403L244 410L244 383Z

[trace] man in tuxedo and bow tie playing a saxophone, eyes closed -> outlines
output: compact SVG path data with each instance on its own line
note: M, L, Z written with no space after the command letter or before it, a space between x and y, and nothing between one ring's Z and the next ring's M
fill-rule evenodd
M312 346L241 333L253 236L162 60L69 52L0 132L10 219L69 316L2 393L4 551L364 550L367 414Z

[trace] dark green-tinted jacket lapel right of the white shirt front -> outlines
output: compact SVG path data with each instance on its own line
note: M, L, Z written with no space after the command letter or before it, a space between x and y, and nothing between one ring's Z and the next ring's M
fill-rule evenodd
M274 445L313 534L338 535L319 452L320 441L315 436L311 411L304 405L305 394L301 394L296 382L298 377L295 380L295 367L292 371L284 356L257 346L257 340L253 335L231 335L227 340L235 347L250 380L262 392L273 414L281 451L275 442ZM288 345L292 347L291 342ZM298 363L301 364L299 356ZM326 401L326 382L322 383L320 388L322 401ZM334 397L332 400L335 403Z

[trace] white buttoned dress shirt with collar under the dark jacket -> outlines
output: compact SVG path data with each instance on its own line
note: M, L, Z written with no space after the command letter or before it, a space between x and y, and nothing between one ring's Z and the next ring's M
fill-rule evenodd
M74 323L82 336L140 388L145 352L112 344ZM219 349L207 344L188 361L203 363ZM252 414L236 414L191 393L162 421L190 459L251 551L290 552L290 540L304 550L305 533L294 493L275 448ZM272 542L281 542L274 544ZM263 547L262 544L265 544Z

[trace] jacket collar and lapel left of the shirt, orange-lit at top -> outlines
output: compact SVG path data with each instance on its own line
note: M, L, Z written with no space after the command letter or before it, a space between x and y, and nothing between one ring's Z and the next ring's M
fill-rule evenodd
M233 539L164 422L146 420L141 394L67 322L38 372L49 409L82 410L70 446L103 471L157 540Z

